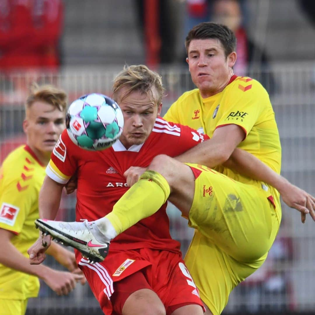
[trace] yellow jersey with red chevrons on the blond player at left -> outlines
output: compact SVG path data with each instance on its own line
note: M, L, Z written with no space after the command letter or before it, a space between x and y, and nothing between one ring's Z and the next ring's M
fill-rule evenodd
M15 234L11 242L25 257L38 238L34 220L44 177L44 165L27 145L11 152L0 168L0 228ZM1 299L24 300L36 297L38 290L37 277L0 264Z

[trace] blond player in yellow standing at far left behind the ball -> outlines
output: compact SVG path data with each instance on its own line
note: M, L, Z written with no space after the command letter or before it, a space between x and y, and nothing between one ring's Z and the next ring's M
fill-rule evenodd
M30 265L27 249L38 238L34 220L38 194L51 151L65 128L66 94L53 86L33 85L25 103L26 145L12 151L0 168L0 309L24 314L36 297L38 277L58 295L68 294L83 275ZM74 254L54 244L49 254L70 271L80 272Z

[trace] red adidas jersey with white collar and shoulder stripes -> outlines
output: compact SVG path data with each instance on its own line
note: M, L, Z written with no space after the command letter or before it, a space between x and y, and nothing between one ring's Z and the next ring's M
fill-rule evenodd
M93 221L112 211L129 189L123 173L130 166L147 167L159 154L177 156L209 137L188 126L157 118L145 143L126 150L118 140L103 151L77 147L63 131L47 166L47 175L65 184L77 172L76 220ZM141 220L111 242L111 249L155 248L179 251L179 242L169 234L166 203L152 216Z

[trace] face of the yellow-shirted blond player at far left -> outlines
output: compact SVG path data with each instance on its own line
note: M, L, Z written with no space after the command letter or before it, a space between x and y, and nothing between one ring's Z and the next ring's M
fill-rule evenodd
M65 128L65 113L53 105L36 101L26 111L23 129L27 144L36 154L50 156Z

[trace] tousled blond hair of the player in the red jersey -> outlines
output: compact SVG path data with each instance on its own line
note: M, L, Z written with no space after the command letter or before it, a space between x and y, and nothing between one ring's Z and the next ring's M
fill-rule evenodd
M123 87L127 87L124 95L117 100L117 92ZM156 88L157 99L155 99L152 87ZM146 93L154 100L156 105L161 104L164 94L161 76L155 71L150 70L145 65L124 66L123 70L117 74L113 84L113 99L119 104L125 97L133 91Z

